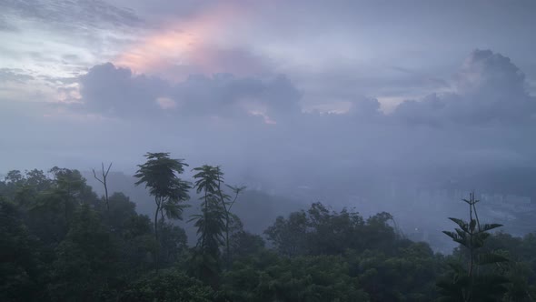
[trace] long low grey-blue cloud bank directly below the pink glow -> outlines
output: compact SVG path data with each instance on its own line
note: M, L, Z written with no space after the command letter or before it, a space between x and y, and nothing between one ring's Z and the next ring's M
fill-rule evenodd
M271 121L300 113L300 93L285 76L190 76L180 83L134 75L111 63L96 65L80 77L80 105L104 116L154 118L263 116Z

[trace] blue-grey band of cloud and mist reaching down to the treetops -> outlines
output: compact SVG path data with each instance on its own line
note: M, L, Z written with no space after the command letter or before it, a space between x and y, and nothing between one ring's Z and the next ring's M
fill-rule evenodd
M114 172L132 176L145 152L165 151L191 166L223 166L230 183L273 196L387 211L405 230L419 227L417 215L440 230L469 192L534 198L536 101L526 76L489 50L472 51L452 75L451 92L402 101L389 113L372 97L321 112L303 109L303 92L286 76L172 83L96 65L78 78L80 102L47 104L50 115L17 116L24 108L4 103L3 120L20 127L6 131L10 160L2 168L91 171L113 162ZM504 171L513 178L487 185Z

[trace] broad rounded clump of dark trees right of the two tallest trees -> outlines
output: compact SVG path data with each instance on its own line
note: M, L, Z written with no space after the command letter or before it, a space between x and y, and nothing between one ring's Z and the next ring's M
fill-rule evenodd
M390 253L399 242L392 216L379 213L363 220L359 213L343 208L329 210L313 203L307 211L297 211L287 218L279 216L264 234L283 255L338 255L347 248L377 249Z

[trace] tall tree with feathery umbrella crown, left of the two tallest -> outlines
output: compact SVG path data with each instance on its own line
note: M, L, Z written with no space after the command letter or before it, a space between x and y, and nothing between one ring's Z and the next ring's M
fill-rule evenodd
M170 158L169 153L148 152L144 156L147 160L138 165L135 185L144 184L154 196L154 237L158 240L158 228L164 225L165 217L182 219L184 201L190 198L188 190L192 186L179 177L188 166L184 159Z

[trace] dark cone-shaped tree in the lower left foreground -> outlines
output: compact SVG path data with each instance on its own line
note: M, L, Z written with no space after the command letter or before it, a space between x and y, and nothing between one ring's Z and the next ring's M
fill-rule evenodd
M50 296L55 301L103 301L121 270L118 245L89 205L74 213L65 240L56 248Z

